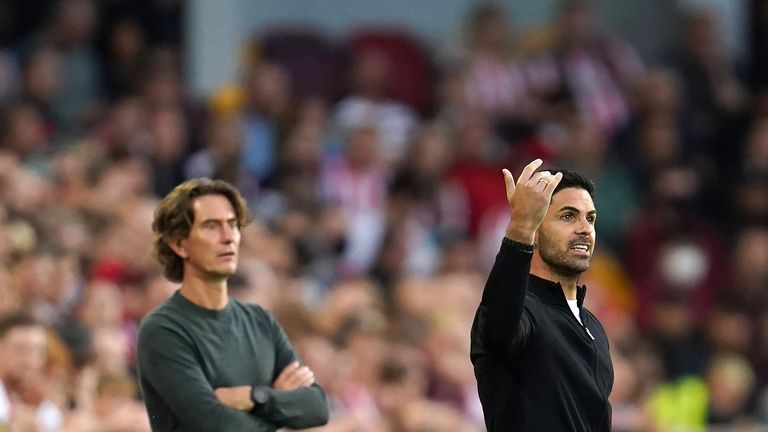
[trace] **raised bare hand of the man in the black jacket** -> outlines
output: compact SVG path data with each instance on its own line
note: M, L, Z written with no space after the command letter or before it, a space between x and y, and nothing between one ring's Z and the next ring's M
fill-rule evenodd
M510 240L533 244L534 234L547 214L552 193L563 178L561 173L536 172L541 164L541 159L536 159L526 165L517 183L509 170L502 170L511 216L507 226Z

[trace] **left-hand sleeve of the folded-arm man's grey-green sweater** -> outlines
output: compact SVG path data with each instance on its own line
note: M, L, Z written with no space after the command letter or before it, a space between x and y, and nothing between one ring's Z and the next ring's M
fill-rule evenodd
M194 349L171 326L145 323L139 332L137 355L142 379L152 385L162 402L180 419L184 430L275 432L278 429L268 421L221 404L195 358Z

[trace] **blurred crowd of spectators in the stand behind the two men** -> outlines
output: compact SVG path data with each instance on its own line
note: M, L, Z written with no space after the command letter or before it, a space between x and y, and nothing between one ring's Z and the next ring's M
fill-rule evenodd
M614 431L768 430L766 84L762 0L4 0L0 315L48 335L0 335L0 430L149 430L152 212L207 176L319 430L483 431L469 329L536 157L597 184Z

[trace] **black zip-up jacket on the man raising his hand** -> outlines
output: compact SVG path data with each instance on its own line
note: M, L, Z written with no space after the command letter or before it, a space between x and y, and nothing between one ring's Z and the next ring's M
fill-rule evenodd
M611 430L608 338L559 283L529 274L531 252L503 242L472 325L471 359L489 432Z

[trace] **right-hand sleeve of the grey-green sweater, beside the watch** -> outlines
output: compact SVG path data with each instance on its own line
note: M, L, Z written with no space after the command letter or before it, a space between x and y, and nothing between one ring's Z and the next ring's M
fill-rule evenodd
M299 360L299 357L280 324L271 314L266 311L264 313L269 319L275 344L275 376L272 377L274 381L286 366ZM317 383L291 391L273 390L269 402L256 408L253 413L281 427L291 429L322 426L328 423L329 417L325 391Z

